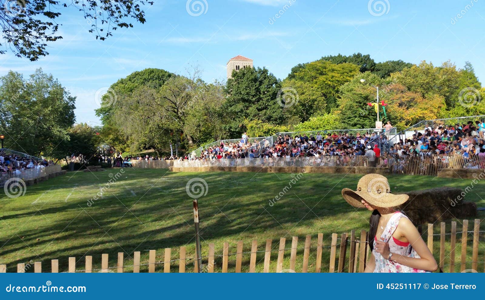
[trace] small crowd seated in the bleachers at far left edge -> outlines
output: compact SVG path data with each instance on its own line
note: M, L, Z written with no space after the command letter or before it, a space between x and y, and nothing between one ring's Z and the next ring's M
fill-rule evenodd
M7 154L3 151L0 152L1 174L12 173L16 176L20 176L24 170L40 170L51 165L54 165L52 160L42 159L37 161L33 158L25 158L21 157L20 155Z

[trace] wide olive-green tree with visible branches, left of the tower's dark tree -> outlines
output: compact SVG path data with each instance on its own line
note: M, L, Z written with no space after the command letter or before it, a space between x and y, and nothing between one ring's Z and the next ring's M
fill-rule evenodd
M223 100L219 84L171 76L160 88L141 86L118 97L110 120L120 134L111 135L125 136L125 149L131 152L155 149L162 153L171 142L191 148L224 134L218 129Z

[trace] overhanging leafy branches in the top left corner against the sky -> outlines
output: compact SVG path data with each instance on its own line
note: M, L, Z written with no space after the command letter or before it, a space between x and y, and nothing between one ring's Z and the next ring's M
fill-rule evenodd
M4 1L0 10L3 42L18 57L36 61L46 56L47 42L62 39L58 31L62 24L56 22L61 11L75 7L91 23L89 32L96 39L104 40L118 28L133 27L129 19L145 23L141 6L153 4L144 0L21 0ZM6 53L7 50L0 50Z

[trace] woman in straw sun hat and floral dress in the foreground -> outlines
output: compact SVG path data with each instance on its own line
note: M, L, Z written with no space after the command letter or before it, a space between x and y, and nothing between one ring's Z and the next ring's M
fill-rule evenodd
M409 196L391 194L388 179L379 174L360 178L357 190L342 189L350 205L372 211L369 246L372 254L365 272L435 271L438 267L420 233L396 207Z

